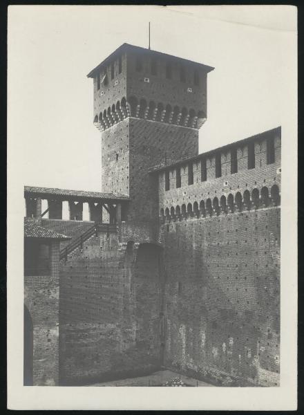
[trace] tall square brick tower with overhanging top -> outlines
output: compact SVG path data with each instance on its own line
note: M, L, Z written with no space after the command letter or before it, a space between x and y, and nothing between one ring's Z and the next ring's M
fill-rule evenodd
M94 124L102 132L102 192L130 196L122 220L155 223L149 170L198 154L211 66L122 44L96 66Z

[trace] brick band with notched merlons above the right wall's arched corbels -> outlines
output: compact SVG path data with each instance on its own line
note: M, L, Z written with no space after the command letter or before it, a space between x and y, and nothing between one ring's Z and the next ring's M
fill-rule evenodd
M222 195L236 195L240 192L243 196L245 190L249 190L250 194L254 188L259 191L262 187L270 189L273 185L281 187L281 138L276 137L275 142L275 161L267 165L266 159L266 140L255 143L256 167L254 169L247 168L247 146L237 149L238 154L238 172L231 174L230 152L222 154L222 176L216 178L215 175L215 155L207 158L207 181L201 181L200 160L193 163L193 185L188 185L188 165L182 165L180 168L181 187L176 188L176 169L170 169L170 190L165 190L165 174L160 172L158 175L159 188L159 207L166 209L182 204L187 206L188 203L196 201L198 205L201 200L206 202L207 199L213 200Z

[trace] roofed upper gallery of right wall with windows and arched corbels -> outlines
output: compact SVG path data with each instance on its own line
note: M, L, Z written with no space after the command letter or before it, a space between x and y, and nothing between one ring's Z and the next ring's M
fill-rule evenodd
M150 173L162 222L278 205L281 127Z

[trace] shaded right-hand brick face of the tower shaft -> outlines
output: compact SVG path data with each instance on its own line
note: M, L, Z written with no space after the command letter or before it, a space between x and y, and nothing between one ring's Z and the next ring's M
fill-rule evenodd
M129 220L154 221L158 217L155 165L198 154L198 131L171 124L131 118Z

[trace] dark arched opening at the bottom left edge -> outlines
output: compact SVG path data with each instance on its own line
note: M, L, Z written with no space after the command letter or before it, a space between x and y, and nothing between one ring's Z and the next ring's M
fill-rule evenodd
M23 385L32 386L33 326L26 305L24 305L23 322Z

